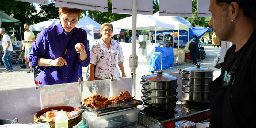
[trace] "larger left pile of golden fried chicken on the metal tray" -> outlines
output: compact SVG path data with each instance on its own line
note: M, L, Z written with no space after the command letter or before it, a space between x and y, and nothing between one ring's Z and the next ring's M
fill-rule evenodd
M97 94L93 94L87 99L82 100L82 104L87 107L94 107L95 109L106 108L112 104L112 101L106 97L102 97Z

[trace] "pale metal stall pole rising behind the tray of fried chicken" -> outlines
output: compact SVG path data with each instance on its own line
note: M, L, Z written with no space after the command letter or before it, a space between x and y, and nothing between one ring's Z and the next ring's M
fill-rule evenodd
M137 0L132 0L132 55L136 55L136 23L137 23ZM133 70L132 97L136 93L136 70Z

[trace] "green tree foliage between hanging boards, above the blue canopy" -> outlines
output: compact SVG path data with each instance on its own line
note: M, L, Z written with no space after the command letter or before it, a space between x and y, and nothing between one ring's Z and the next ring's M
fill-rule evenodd
M197 11L197 0L192 1L192 12L198 13ZM202 27L210 27L209 21L211 17L198 17L198 14L193 14L193 17L185 17L186 20L188 20L192 26L202 26Z

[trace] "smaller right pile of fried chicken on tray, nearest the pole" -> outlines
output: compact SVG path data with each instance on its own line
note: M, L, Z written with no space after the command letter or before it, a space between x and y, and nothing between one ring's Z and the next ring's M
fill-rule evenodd
M124 91L124 92L120 92L118 96L110 97L109 100L111 100L112 102L117 102L119 100L122 100L124 102L129 102L129 101L132 101L133 98L134 97L132 97L128 91Z

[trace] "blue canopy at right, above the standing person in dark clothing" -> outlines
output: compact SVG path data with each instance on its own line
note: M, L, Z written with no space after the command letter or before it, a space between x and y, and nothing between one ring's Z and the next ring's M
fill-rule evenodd
M201 26L189 28L189 37L192 39L193 34L197 35L197 38L200 38L204 35L205 32L212 32L210 28L205 28Z

